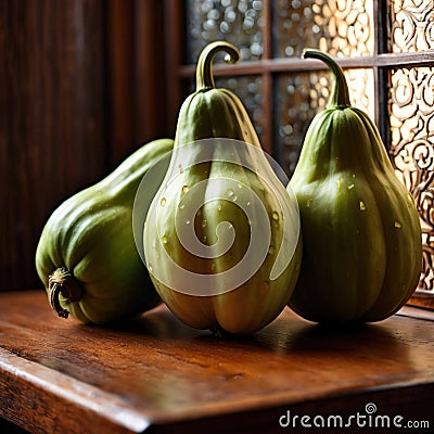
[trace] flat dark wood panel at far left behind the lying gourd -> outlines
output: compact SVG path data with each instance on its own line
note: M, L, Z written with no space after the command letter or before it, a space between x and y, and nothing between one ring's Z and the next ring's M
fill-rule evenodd
M98 0L0 1L0 290L41 285L44 221L106 170L104 35Z

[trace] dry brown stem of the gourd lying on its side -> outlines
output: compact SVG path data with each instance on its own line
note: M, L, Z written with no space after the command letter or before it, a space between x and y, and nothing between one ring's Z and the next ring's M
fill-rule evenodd
M82 289L74 276L66 268L58 268L48 279L48 297L51 308L59 317L67 318L69 310L61 306L60 295L66 302L79 302Z

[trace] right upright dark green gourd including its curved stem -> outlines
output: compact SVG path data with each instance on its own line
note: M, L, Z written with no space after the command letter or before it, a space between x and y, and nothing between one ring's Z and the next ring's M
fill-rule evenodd
M352 107L345 76L326 53L334 89L305 137L290 186L302 219L302 270L290 306L317 322L379 321L414 291L422 267L419 215L375 125Z

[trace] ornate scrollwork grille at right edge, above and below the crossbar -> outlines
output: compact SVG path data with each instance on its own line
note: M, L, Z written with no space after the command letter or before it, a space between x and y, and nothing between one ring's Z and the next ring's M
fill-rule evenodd
M392 0L390 27L393 53L434 49L434 1ZM414 197L422 226L419 289L434 296L434 68L394 68L390 89L391 156Z

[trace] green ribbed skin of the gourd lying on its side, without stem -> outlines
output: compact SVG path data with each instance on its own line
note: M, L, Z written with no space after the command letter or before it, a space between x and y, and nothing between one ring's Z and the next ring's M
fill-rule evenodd
M47 221L36 268L47 291L60 267L73 273L81 299L60 304L87 323L131 317L161 303L132 234L132 204L143 176L171 151L174 141L150 142L111 175L62 203Z

